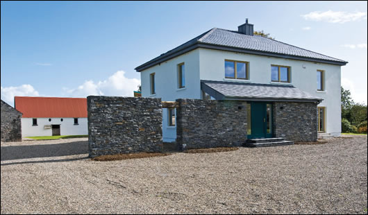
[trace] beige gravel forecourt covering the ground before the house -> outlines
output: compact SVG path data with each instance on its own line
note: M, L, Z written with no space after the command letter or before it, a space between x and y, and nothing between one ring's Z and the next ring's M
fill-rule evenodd
M1 214L367 214L367 136L113 162L1 143Z

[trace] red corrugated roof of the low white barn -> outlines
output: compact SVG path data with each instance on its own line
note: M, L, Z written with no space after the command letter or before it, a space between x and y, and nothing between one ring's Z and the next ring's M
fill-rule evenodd
M87 117L87 98L15 96L14 100L23 118Z

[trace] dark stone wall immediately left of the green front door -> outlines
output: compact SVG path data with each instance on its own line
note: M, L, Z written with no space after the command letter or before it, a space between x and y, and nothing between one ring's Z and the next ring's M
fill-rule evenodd
M183 149L242 146L246 141L246 103L177 99L176 142Z

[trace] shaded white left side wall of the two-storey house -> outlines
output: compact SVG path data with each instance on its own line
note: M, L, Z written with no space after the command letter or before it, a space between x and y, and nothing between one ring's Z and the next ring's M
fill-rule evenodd
M178 89L177 66L184 62L185 87ZM155 73L156 94L151 95L149 75ZM140 72L142 97L175 101L176 98L201 98L199 79L199 49L190 51ZM167 109L162 109L162 140L175 141L176 127L168 128Z

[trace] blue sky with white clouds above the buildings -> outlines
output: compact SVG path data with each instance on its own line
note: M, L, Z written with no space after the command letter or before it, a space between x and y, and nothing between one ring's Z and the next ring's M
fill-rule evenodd
M367 1L1 1L1 99L133 96L134 68L245 18L276 40L349 61L367 104Z

